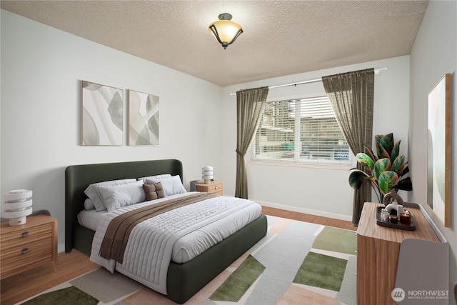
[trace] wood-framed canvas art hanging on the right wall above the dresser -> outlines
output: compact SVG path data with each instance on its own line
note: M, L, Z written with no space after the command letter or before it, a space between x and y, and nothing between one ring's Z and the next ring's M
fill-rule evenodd
M428 204L451 226L451 74L428 94Z

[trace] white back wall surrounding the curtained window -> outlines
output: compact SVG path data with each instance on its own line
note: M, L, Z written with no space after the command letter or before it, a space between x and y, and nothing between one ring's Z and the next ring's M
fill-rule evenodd
M224 193L235 194L236 180L236 96L231 92L258 86L290 84L359 69L386 67L375 76L373 136L393 132L401 140L401 153L408 149L409 56L371 61L351 66L312 71L227 86L223 90ZM271 89L268 100L325 95L322 82ZM373 146L374 147L374 146ZM246 159L248 156L246 155ZM351 220L353 190L348 168L322 169L303 166L271 166L247 162L248 197L266 206ZM402 194L403 198L407 194ZM373 196L376 201L376 196Z

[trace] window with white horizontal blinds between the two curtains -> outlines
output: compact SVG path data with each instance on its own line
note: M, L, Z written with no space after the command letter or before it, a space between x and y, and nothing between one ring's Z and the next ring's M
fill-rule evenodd
M266 102L251 160L352 164L327 96Z

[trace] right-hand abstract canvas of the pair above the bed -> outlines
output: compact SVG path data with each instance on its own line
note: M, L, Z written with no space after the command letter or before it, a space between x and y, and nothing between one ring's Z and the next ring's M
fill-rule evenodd
M129 145L159 145L159 96L129 90Z

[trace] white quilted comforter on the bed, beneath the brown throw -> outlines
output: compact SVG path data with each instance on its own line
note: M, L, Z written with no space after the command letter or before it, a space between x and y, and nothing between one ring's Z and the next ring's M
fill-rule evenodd
M170 198L167 196L107 213L97 227L91 261L166 294L166 274L172 256L178 263L189 261L261 215L261 206L253 201L226 196L206 199L138 224L131 231L122 264L99 256L101 241L111 219Z

